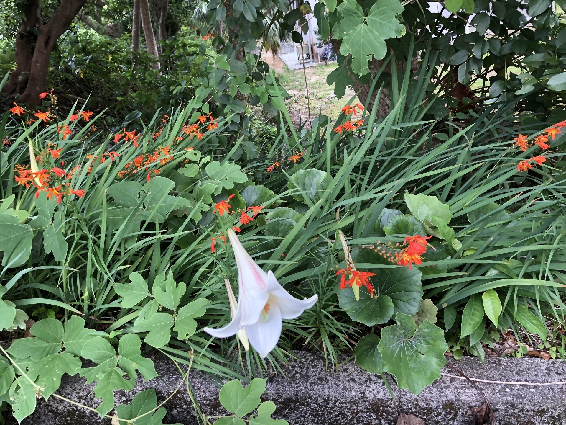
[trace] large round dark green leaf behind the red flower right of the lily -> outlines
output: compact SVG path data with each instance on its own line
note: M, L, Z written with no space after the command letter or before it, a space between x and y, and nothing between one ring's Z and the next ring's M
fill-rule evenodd
M352 260L359 270L375 273L371 283L375 288L371 298L362 287L357 301L351 288L338 289L338 301L348 315L367 326L387 322L396 312L414 315L421 309L423 295L421 272L416 267L393 266L372 249L355 249Z

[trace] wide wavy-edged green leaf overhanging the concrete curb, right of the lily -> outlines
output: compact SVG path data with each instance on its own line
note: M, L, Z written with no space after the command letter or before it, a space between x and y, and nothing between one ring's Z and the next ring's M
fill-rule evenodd
M442 329L425 320L419 328L409 315L397 313L396 325L381 329L378 349L385 372L397 378L399 388L419 394L439 379L448 345Z

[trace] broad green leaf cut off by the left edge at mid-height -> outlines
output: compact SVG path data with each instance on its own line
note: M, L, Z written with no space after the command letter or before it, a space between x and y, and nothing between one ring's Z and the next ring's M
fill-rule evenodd
M4 252L2 266L17 267L28 261L32 239L31 227L20 224L13 215L0 213L0 251Z

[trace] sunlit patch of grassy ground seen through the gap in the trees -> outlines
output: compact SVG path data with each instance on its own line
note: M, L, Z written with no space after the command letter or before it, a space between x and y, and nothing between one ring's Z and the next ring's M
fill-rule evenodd
M295 128L299 126L299 117L302 123L306 123L306 128L310 128L308 104L310 104L311 120L314 120L319 114L328 115L335 120L340 114L340 108L348 103L355 94L353 90L346 89L344 97L337 99L334 95L334 84L328 86L326 83L328 74L337 67L336 62L305 68L303 74L302 69L289 70L285 63L278 56L274 58L271 52L263 53L261 59L275 71L275 75L280 79L282 86L292 96L291 99L286 101L286 104ZM308 102L305 74L308 84Z

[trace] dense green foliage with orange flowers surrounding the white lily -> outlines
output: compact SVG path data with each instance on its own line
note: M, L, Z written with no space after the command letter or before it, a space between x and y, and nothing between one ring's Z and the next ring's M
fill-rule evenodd
M501 335L515 355L564 358L564 5L444 6L450 16L397 0L314 11L215 0L199 6L196 28L169 23L159 71L149 54L132 59L127 35L68 31L51 57L47 112L4 99L2 408L20 421L79 374L96 382L101 417L160 423L151 390L114 404L138 372L156 379L151 350L218 383L249 381L225 384L233 415L217 423L258 425L276 423L275 406L259 405L261 377L295 349L320 351L330 368L353 354L415 394L440 377L445 353L483 361ZM130 12L109 3L102 18L127 25ZM311 12L339 48L337 95L367 86L387 114L354 97L336 121L293 127L260 56L273 28L301 41L295 22ZM203 332L231 320L230 227L293 296L318 295L265 359Z

